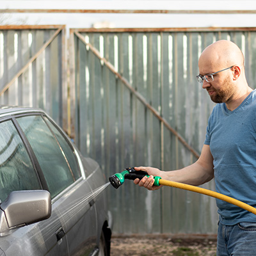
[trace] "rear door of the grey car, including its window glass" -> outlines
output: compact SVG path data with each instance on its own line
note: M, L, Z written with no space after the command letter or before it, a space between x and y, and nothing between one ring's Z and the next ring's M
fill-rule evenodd
M96 248L97 215L74 148L46 116L22 116L17 122L44 173L52 205L60 211L61 236L67 238L70 255L90 255Z

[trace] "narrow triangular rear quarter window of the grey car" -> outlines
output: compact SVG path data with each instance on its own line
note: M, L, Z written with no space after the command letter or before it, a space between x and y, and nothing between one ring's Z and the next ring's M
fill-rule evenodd
M72 172L74 173L74 177L77 180L79 177L81 177L81 172L79 170L77 159L74 153L74 150L70 147L68 142L65 140L63 135L58 131L58 129L49 121L48 118L45 118L47 124L52 129L52 132L54 132L58 142L60 143L61 148L65 152L65 156L67 157L68 163L70 164L70 168L72 169Z

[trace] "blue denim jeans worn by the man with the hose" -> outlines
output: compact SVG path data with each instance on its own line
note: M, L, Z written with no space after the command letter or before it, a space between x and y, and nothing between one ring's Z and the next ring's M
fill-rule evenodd
M256 255L256 223L241 222L234 226L219 223L217 256Z

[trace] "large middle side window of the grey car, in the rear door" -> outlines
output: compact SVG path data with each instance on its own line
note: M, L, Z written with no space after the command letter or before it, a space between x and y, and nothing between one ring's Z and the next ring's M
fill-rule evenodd
M67 158L42 116L22 116L17 121L35 152L53 198L76 180Z

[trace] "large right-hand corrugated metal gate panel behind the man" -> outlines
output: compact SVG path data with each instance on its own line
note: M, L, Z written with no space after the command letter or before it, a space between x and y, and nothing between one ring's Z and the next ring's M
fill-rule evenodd
M107 177L128 166L173 170L196 160L179 136L200 152L214 106L195 79L207 45L239 45L255 88L253 28L71 29L70 38L76 143ZM203 187L214 190L214 181ZM216 233L214 198L175 188L151 192L129 181L109 188L108 198L116 233Z

